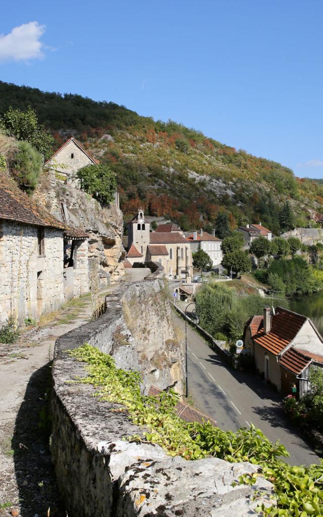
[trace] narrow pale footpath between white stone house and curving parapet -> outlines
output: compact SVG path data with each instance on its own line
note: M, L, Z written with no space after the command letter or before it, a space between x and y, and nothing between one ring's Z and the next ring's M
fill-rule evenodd
M50 369L56 339L91 314L87 295L45 326L23 332L17 343L0 343L0 517L66 517L50 457Z

